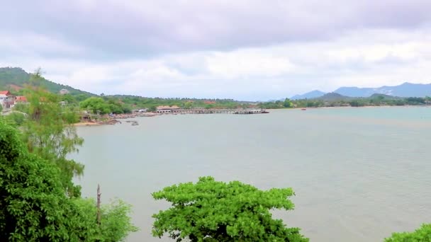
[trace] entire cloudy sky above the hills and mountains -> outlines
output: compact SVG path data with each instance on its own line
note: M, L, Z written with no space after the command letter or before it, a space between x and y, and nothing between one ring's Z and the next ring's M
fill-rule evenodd
M431 83L430 12L430 0L4 1L0 67L147 97Z

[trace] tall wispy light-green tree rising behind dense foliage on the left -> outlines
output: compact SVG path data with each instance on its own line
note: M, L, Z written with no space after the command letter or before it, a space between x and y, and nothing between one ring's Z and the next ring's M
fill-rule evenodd
M26 88L28 117L21 127L23 142L28 151L55 162L62 171L62 184L70 196L79 196L80 187L72 183L74 175L82 175L84 166L67 159L67 154L78 151L84 139L78 136L74 122L79 120L76 110L59 104L60 97L40 86L40 71L32 74L32 85Z

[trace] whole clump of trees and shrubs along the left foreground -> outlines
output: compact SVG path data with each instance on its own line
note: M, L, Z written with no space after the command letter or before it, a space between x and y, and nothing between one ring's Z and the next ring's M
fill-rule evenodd
M77 113L40 87L40 73L30 80L28 104L17 106L25 113L0 117L1 241L123 241L137 231L130 205L99 210L72 182L84 169L67 159L83 142L72 126Z

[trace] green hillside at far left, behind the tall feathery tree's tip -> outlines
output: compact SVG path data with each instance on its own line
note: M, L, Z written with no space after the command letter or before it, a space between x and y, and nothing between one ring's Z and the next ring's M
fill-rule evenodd
M28 84L30 80L30 74L18 67L1 67L0 68L0 90L18 91L23 88L25 84ZM81 91L71 86L65 86L58 84L47 79L42 79L42 85L52 93L59 93L62 89L67 89L70 94L78 95L84 94L88 96L94 96L92 93Z

